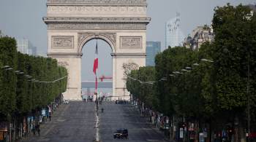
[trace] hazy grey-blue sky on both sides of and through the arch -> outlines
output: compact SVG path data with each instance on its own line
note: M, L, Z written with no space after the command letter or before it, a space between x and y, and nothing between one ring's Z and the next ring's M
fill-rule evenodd
M184 35L198 25L211 24L214 7L255 4L256 0L148 0L148 17L151 23L147 29L147 41L162 42L165 46L165 21L181 14L181 31ZM37 47L39 55L47 52L47 31L42 17L46 16L46 0L0 0L0 30L16 38L26 38ZM93 80L92 63L95 42L83 49L83 80ZM99 42L99 74L111 76L111 49L105 42Z

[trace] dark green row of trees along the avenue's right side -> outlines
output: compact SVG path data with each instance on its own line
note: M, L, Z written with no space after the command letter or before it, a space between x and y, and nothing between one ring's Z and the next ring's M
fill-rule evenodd
M219 124L216 129L234 121L246 127L249 110L255 124L256 15L227 4L215 9L212 25L214 42L200 50L168 48L157 55L155 67L131 71L127 89L169 117Z

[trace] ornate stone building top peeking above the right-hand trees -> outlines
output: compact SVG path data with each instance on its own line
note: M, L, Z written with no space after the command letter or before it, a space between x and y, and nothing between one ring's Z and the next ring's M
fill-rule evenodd
M209 25L198 26L185 39L184 47L192 50L198 50L204 42L214 41L214 30Z

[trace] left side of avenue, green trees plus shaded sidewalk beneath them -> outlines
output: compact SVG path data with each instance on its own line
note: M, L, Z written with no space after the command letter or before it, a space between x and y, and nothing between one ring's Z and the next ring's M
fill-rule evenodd
M0 37L0 88L0 135L13 141L29 135L61 103L67 69L52 58L17 52L15 39Z

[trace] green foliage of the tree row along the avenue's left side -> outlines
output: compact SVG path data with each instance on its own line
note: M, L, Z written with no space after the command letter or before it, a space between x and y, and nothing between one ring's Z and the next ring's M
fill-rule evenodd
M52 58L17 52L16 41L0 37L0 115L26 116L51 103L67 87L67 69ZM51 82L51 83L50 83Z

